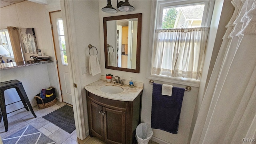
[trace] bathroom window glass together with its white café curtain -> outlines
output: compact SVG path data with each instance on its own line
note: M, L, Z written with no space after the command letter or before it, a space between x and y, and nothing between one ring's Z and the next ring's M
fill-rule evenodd
M211 14L208 10L212 4L207 0L158 0L152 44L152 76L200 80L209 31L206 23Z

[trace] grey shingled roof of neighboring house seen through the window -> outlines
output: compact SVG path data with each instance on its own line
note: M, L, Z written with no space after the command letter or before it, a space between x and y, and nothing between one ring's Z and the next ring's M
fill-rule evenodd
M204 13L204 5L185 6L180 8L186 19L202 19Z

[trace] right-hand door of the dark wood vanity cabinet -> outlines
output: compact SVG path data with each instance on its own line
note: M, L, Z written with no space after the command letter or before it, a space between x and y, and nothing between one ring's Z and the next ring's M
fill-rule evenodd
M103 108L105 142L108 144L125 144L126 112Z

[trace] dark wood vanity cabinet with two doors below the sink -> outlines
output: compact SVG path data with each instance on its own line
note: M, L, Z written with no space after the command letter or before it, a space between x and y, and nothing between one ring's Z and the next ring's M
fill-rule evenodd
M86 90L89 132L107 144L135 144L142 92L132 102L111 100Z

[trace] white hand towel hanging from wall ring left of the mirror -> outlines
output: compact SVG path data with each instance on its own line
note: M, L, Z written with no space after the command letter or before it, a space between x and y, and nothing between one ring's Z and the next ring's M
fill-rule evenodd
M100 64L98 61L97 56L91 55L89 58L89 72L92 74L92 76L95 76L96 74L99 74L100 71Z

